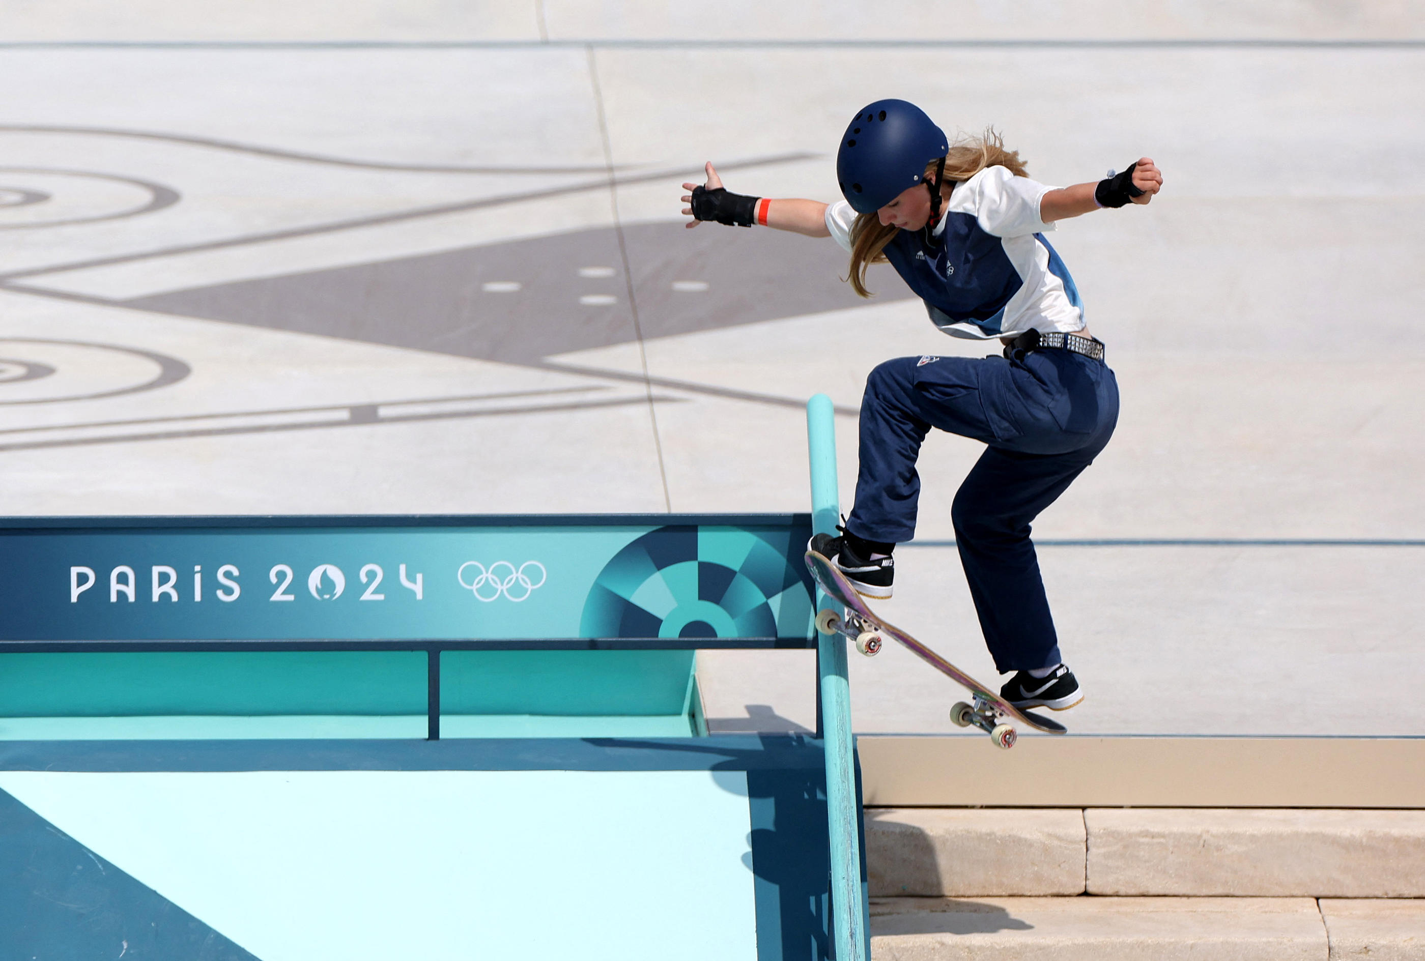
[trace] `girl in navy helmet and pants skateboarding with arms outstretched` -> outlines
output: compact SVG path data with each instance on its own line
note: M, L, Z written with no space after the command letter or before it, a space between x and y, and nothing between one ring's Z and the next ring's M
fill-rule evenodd
M1026 177L993 131L950 145L918 107L881 100L841 138L845 199L821 204L731 194L710 162L707 184L684 184L688 226L760 224L831 236L851 255L861 296L866 268L889 261L955 337L999 339L1002 356L898 357L871 372L861 401L856 500L839 537L812 550L858 592L889 598L892 552L915 535L915 461L931 427L986 444L950 511L955 542L1000 696L1016 708L1063 710L1083 699L1063 663L1030 522L1109 443L1119 389L1103 342L1089 333L1063 261L1045 239L1057 221L1147 204L1163 177L1147 157L1120 174L1050 188Z

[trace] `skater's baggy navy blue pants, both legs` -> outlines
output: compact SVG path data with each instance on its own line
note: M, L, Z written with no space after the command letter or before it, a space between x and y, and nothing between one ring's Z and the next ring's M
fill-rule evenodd
M909 541L926 433L983 441L950 518L985 642L1002 673L1059 663L1030 521L1093 463L1117 420L1113 372L1069 350L888 360L871 372L861 401L861 473L846 528L871 541Z

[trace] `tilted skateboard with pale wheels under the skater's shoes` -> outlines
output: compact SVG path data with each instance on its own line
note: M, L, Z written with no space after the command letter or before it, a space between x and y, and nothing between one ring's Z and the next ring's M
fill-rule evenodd
M849 638L856 645L856 651L868 656L881 651L885 638L898 641L909 648L912 653L969 690L973 696L973 703L959 700L950 708L950 720L958 728L973 725L988 733L996 746L1006 749L1013 747L1015 740L1019 737L1015 732L1015 725L1010 723L1012 720L1050 735L1069 733L1069 729L1057 720L1023 710L1000 699L998 693L926 648L909 634L885 618L872 614L865 599L851 587L846 575L817 551L807 551L807 567L811 569L811 575L817 584L821 585L821 589L832 601L845 608L845 614L842 615L838 615L832 609L819 611L817 614L817 629L822 634L841 634Z

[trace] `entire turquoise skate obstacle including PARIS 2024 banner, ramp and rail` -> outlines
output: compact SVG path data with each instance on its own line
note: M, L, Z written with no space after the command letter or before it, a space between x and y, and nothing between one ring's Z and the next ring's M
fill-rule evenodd
M0 941L866 961L808 440L814 514L0 520ZM814 648L821 736L708 736L704 648Z

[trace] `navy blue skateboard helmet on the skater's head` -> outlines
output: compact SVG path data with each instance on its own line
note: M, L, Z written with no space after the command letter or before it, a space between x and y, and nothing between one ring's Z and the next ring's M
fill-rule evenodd
M923 181L925 165L949 149L945 131L923 110L903 100L878 100L842 134L836 182L856 214L871 214Z

